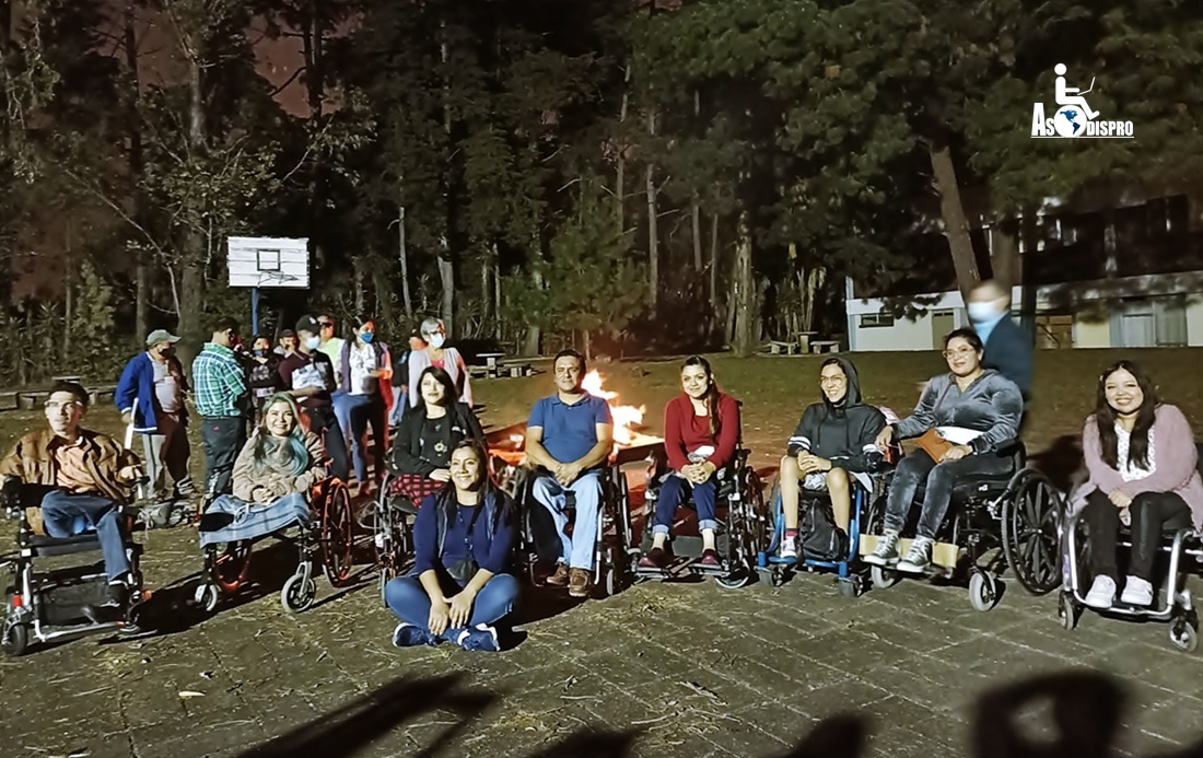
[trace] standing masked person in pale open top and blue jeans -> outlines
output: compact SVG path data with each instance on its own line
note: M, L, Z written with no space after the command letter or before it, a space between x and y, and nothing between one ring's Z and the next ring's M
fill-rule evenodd
M372 466L374 478L379 480L384 475L384 451L387 448L385 420L392 399L392 363L389 345L375 339L375 322L361 315L356 316L355 324L352 338L343 343L338 389L344 398L342 414L345 414L346 426L343 428L351 433L355 479L360 482L360 495L367 495L373 487L368 479L363 437L371 426ZM334 413L339 413L337 404ZM338 418L340 427L343 418Z

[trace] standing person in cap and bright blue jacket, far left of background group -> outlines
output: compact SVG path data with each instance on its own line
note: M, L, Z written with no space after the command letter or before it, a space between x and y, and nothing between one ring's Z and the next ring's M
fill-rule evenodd
M122 421L132 424L134 431L142 437L149 497L155 503L192 495L188 473L191 457L188 409L184 407L188 380L176 357L177 342L179 337L167 330L150 332L146 351L125 366L113 393ZM167 476L171 476L172 492L167 491Z

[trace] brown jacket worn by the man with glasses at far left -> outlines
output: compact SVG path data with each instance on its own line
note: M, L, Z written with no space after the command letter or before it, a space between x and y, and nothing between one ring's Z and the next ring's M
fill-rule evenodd
M123 481L118 473L128 466L141 466L142 461L134 452L122 448L112 437L90 430L79 430L79 434L88 452L84 461L93 479L96 480L100 495L119 505L129 503L130 484ZM54 432L48 428L30 432L18 439L8 455L0 458L0 476L16 476L25 484L57 486L58 467L51 452L53 440ZM30 523L41 531L38 510L30 508L28 511L30 511L28 514Z

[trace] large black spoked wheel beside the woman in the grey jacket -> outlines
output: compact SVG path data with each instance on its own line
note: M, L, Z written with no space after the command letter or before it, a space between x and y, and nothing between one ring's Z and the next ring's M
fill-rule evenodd
M1020 484L1002 509L1002 549L1024 590L1048 594L1061 584L1061 496L1043 474L1026 470L1017 476Z

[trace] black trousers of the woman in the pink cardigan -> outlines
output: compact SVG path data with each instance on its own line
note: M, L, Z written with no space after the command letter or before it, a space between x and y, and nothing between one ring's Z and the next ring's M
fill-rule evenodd
M1191 509L1177 492L1142 492L1128 505L1132 516L1132 556L1128 574L1152 580L1152 562L1161 547L1162 529L1189 527ZM1081 511L1090 526L1090 575L1110 576L1119 584L1115 543L1120 532L1120 509L1102 491L1086 496Z

